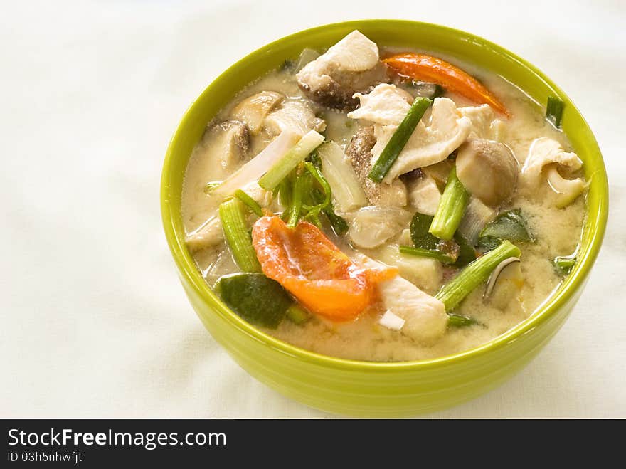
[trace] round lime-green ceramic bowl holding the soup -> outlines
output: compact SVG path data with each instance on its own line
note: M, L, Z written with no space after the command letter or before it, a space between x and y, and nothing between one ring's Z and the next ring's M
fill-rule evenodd
M382 46L420 48L462 58L502 75L537 102L555 95L566 103L563 130L585 162L588 216L573 273L528 320L481 347L421 362L371 363L336 359L280 342L233 313L208 288L184 243L181 187L191 149L206 123L251 80L297 58L303 48L327 48L359 29ZM364 20L336 23L287 36L239 60L193 102L167 149L161 181L167 241L189 301L208 332L252 376L296 401L351 416L410 416L472 399L526 365L563 325L583 291L600 250L608 213L608 186L600 149L571 100L533 65L472 34L428 23Z

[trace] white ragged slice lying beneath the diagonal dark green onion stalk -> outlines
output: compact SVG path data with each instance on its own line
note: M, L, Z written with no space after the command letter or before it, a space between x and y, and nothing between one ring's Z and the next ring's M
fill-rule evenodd
M361 116L375 122L376 144L372 148L372 164L408 112L410 105L406 94L394 85L381 84L368 95L357 95L364 110L361 112L359 108L351 112L349 117ZM465 142L471 130L472 121L461 114L454 101L435 98L430 118L425 115L420 120L383 182L391 184L400 174L443 161Z

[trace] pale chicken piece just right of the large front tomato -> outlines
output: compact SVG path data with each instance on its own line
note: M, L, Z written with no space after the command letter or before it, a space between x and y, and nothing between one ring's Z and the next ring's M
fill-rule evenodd
M396 277L378 285L384 307L405 320L401 332L416 342L432 344L442 337L448 317L437 298Z

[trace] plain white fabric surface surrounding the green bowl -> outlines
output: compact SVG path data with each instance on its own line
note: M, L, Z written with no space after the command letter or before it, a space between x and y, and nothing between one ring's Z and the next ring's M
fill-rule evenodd
M324 417L252 379L176 277L166 145L196 95L276 38L406 18L484 36L545 71L603 150L611 216L565 327L496 391L432 417L626 417L626 4L23 1L0 17L0 416Z

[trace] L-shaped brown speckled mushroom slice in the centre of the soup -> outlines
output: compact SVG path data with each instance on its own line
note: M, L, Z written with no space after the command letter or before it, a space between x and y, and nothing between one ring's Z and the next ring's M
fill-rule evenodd
M346 147L346 157L354 168L356 176L361 181L361 186L367 199L373 205L405 206L406 187L403 181L396 179L391 184L376 184L368 178L371 171L371 149L376 144L373 127L361 127L352 137Z

